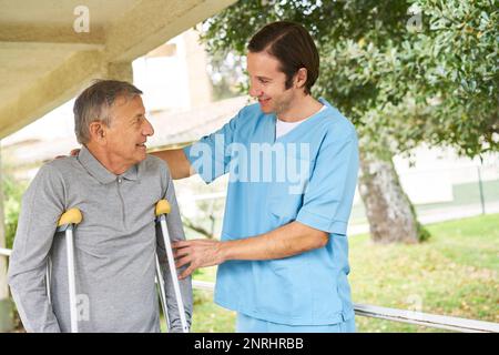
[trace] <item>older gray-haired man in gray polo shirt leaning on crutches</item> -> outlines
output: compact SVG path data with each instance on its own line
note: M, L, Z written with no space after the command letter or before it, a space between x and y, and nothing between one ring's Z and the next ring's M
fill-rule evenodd
M181 332L167 260L156 240L154 206L172 205L170 235L184 240L170 171L147 155L154 133L141 91L126 82L98 81L74 103L78 156L42 166L26 192L19 217L9 284L28 332L68 332L70 305L63 235L54 234L71 207L83 214L75 241L79 327L82 332L159 332L155 253L163 266L172 332ZM52 261L51 303L45 267ZM187 323L191 280L181 282Z

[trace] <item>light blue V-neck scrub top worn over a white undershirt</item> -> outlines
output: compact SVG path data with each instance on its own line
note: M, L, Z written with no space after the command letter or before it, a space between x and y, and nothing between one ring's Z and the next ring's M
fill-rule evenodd
M326 246L299 255L218 265L215 303L223 307L291 325L336 324L354 316L346 230L358 141L354 125L319 101L325 110L277 140L275 114L256 103L184 149L206 183L230 173L222 241L293 221L329 233Z

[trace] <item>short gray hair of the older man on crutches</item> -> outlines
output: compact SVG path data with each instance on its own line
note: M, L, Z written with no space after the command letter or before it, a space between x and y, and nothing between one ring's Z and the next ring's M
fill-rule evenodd
M109 110L119 97L132 99L142 91L125 81L98 80L74 101L74 133L80 144L90 141L90 123L101 121L110 126Z

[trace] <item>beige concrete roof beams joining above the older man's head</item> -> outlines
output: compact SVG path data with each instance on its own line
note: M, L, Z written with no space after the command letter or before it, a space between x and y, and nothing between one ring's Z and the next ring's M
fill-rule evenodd
M0 104L0 139L74 98L95 78L132 81L131 62L164 44L235 0L142 0L91 32L60 24L0 24L1 49L60 49L73 52L57 69Z

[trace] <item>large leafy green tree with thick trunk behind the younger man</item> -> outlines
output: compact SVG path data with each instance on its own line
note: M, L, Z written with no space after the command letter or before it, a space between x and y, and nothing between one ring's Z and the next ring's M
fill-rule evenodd
M477 13L482 19L478 22ZM451 20L442 21L444 16ZM275 20L296 21L312 32L322 60L314 94L334 102L357 125L359 192L373 239L426 239L391 159L422 141L452 144L468 155L497 149L497 102L490 103L491 95L497 98L493 2L240 1L208 19L202 39L212 53L244 54L251 36ZM442 22L448 26L436 30ZM473 33L481 47L468 39L462 48L446 49L449 41L466 41L462 31ZM471 59L481 63L479 69ZM444 73L445 80L436 82L435 73ZM478 80L482 73L489 73L487 79ZM472 106L467 104L470 95Z

